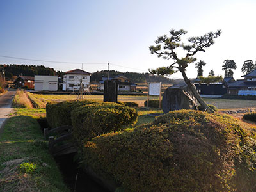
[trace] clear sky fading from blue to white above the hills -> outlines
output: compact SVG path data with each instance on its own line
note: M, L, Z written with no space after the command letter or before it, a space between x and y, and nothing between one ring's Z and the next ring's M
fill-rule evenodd
M190 36L221 29L215 44L195 56L207 63L204 76L210 70L223 76L223 61L229 59L237 65L234 78L242 79L243 62L256 60L255 9L255 0L1 0L0 63L62 71L84 63L87 72L106 70L109 63L109 70L148 72L172 64L150 54L157 36L184 29L186 43ZM189 78L197 75L195 63L187 68Z

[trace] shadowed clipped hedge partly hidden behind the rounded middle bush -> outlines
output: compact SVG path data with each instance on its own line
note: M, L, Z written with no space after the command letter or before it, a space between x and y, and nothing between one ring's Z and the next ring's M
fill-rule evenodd
M99 103L95 100L71 100L64 102L51 102L46 105L46 117L50 127L72 125L71 111L87 104Z

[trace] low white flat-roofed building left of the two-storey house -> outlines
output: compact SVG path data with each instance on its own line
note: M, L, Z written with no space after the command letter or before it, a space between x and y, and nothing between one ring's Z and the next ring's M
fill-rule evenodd
M35 75L35 91L57 91L58 77L57 76L38 76Z

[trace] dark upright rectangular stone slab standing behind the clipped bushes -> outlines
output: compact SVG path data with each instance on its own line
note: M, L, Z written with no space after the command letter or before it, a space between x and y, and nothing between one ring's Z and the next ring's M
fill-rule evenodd
M116 80L104 81L104 102L117 102L117 86Z

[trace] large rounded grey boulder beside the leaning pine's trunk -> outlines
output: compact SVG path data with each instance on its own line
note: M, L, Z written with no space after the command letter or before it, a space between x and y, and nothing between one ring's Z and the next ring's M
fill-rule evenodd
M198 106L197 100L186 83L170 86L164 92L162 101L164 113L180 109L195 109L196 106Z

